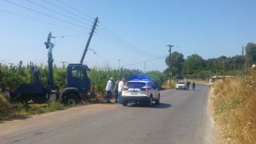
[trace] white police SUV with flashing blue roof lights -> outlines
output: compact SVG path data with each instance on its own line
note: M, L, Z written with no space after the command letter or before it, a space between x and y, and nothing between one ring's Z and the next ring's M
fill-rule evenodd
M134 79L125 84L122 91L123 106L127 106L129 102L143 102L151 107L153 101L160 103L160 93L152 81Z

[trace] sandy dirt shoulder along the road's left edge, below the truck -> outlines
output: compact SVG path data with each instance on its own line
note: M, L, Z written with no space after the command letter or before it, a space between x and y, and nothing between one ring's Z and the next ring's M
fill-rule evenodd
M42 113L27 116L26 118L8 120L0 125L0 136L11 134L13 132L22 131L29 127L41 127L42 125L53 125L68 122L81 116L92 116L103 113L108 109L118 108L117 104L90 104L86 106L79 106L68 108L60 111L53 111L50 113Z

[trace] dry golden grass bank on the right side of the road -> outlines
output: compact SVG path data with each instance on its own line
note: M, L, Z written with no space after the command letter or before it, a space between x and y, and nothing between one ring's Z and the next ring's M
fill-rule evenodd
M256 72L214 84L214 120L227 143L256 143Z

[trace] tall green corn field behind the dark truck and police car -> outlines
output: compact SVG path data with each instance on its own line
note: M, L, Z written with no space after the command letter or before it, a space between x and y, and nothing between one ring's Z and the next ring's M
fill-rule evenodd
M40 77L43 84L47 84L47 74L48 68L44 65L38 66L40 70ZM60 88L65 88L66 81L66 68L63 67L53 67L54 71L54 84L60 86ZM106 83L109 77L113 77L114 81L125 77L127 81L131 80L133 77L149 77L157 87L161 85L168 79L168 76L163 72L150 71L143 73L141 70L129 70L125 68L120 68L120 70L113 70L109 68L92 68L88 72L91 84L95 87L95 92L102 94L105 91ZM18 65L7 66L0 63L0 86L5 86L10 88L10 90L15 90L21 83L30 83L30 66L23 65L22 61Z

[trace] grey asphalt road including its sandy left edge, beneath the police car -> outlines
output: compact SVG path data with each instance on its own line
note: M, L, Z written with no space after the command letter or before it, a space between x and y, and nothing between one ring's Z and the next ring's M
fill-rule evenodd
M92 104L0 124L0 143L207 142L208 86L161 92L161 104Z

